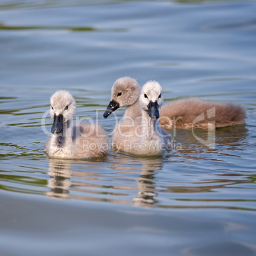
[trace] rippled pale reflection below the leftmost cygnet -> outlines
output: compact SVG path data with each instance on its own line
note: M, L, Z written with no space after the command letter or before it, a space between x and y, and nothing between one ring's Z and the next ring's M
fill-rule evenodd
M88 171L99 170L101 166L97 162L99 162L97 159L95 163L93 161L49 159L48 174L51 178L48 180L48 188L50 191L46 192L46 195L62 199L106 201L101 197L97 198L97 194L113 194L103 192L104 189L111 187L101 184L104 180L104 173ZM101 159L101 162L104 164L104 159ZM89 196L87 196L88 194ZM96 197L92 197L92 195L96 195Z

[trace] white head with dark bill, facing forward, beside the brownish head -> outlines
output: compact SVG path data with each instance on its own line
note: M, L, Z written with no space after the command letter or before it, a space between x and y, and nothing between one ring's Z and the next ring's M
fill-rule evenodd
M156 120L159 118L159 108L162 106L162 87L157 81L148 81L141 88L139 105L142 110L148 111L148 115Z

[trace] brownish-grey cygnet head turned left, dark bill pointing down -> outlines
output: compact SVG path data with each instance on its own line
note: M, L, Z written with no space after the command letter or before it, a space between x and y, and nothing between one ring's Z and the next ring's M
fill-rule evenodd
M139 92L139 85L135 79L127 76L119 78L111 89L111 100L103 115L104 118L122 106L134 104L139 97Z

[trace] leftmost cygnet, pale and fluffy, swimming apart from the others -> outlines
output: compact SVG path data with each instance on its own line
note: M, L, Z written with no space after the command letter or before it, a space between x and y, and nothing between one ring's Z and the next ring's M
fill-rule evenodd
M103 157L108 153L108 139L99 125L80 124L72 127L76 103L69 92L58 90L51 97L50 103L52 136L45 148L49 157L88 159Z

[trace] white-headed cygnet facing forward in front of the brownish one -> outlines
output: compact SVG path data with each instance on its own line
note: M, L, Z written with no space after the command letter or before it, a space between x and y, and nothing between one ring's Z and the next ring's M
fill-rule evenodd
M115 128L113 148L134 155L162 155L171 150L172 138L157 119L162 105L162 87L156 81L143 85L139 96L141 117L124 118Z

